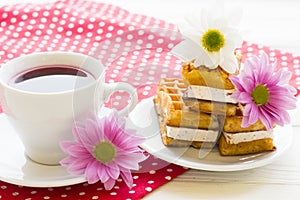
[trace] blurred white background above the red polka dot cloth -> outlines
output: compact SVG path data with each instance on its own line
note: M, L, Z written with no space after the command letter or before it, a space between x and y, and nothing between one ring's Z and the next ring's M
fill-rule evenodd
M46 3L54 0L0 0L0 6L14 3ZM91 1L91 0L87 0ZM215 1L207 0L94 0L121 6L175 24L184 16ZM297 0L224 0L224 7L242 10L240 28L244 40L300 55L300 12Z

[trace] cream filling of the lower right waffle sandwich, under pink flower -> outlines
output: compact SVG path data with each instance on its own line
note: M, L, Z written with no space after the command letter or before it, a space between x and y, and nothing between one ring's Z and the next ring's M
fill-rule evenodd
M223 132L223 135L228 144L238 144L241 142L250 142L250 141L260 140L265 138L273 138L273 130L241 132L241 133Z

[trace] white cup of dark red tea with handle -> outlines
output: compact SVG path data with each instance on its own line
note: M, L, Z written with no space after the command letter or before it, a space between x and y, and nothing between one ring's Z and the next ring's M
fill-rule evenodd
M93 57L71 52L40 52L15 58L0 68L3 112L35 162L58 165L66 155L59 143L72 140L72 124L89 112L101 112L116 91L130 95L119 111L137 104L130 84L105 83L106 68Z

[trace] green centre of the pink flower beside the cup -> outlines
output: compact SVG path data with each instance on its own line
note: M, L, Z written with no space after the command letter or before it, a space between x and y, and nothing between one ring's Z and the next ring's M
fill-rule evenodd
M102 163L110 162L116 157L116 147L108 141L99 142L94 147L94 157Z

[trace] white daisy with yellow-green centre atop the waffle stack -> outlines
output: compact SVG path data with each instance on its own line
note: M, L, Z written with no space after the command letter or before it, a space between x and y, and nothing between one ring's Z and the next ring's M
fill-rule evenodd
M235 27L237 13L226 16L216 9L203 9L187 17L186 26L179 26L181 33L200 45L207 56L199 52L198 64L214 69L222 67L228 73L235 73L238 63L234 50L242 44L242 38ZM238 13L239 14L239 13Z

